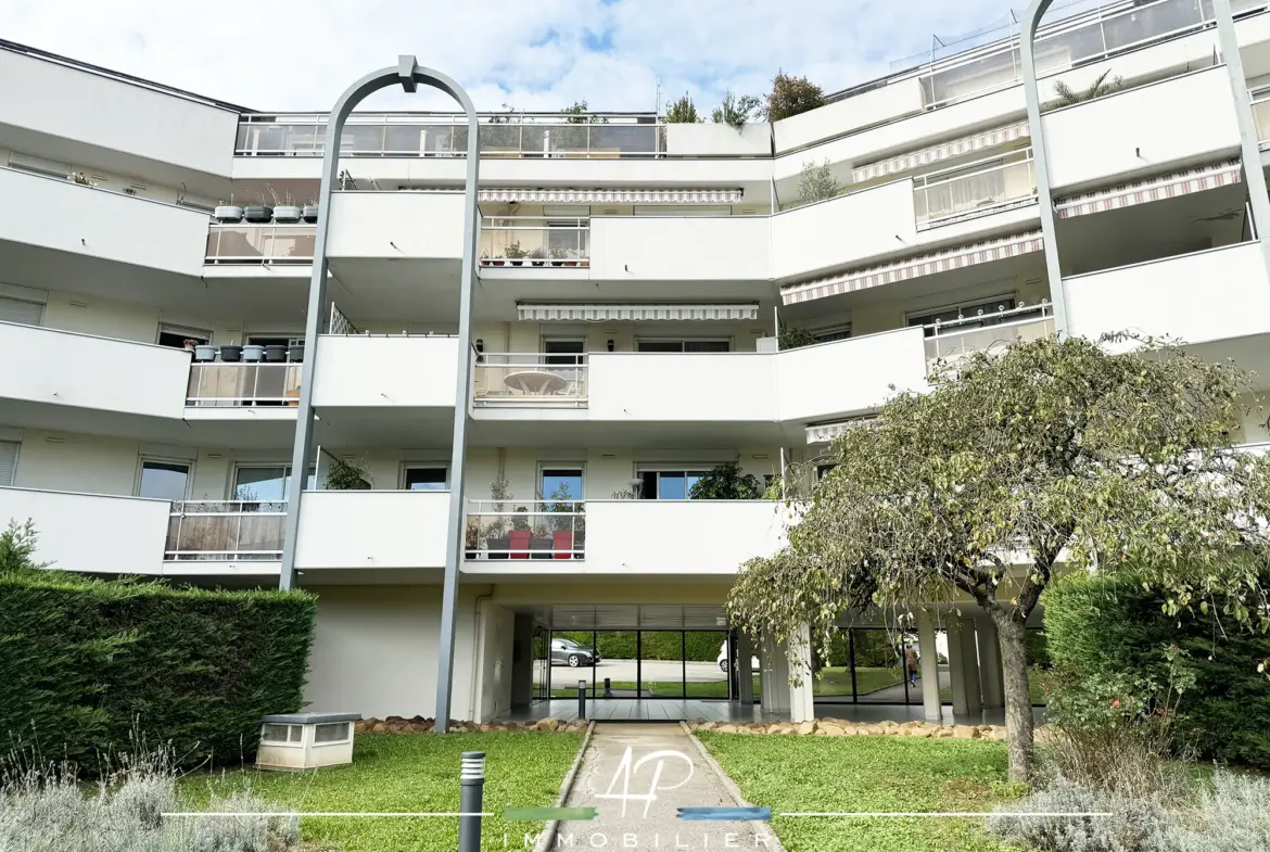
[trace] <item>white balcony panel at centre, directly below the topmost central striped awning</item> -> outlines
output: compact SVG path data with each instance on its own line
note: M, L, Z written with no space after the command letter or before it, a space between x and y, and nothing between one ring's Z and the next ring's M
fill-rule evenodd
M766 216L591 220L597 281L762 281L771 277Z

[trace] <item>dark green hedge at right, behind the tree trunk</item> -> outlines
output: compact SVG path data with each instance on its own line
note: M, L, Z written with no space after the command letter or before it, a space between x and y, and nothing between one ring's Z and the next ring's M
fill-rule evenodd
M1270 768L1270 682L1257 673L1270 636L1234 625L1223 636L1210 617L1166 616L1162 598L1126 574L1072 574L1043 601L1057 676L1052 709L1110 703L1107 693L1121 684L1167 688L1166 654L1176 645L1195 676L1177 706L1181 742L1203 757Z

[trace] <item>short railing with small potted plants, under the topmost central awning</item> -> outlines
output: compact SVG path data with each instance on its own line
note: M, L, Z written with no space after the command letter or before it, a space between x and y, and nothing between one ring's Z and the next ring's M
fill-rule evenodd
M589 267L591 220L542 216L481 218L483 267Z

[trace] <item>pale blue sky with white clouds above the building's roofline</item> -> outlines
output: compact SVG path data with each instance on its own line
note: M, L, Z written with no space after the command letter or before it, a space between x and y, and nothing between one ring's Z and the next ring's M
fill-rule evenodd
M1021 4L1020 4L1021 5ZM249 109L326 112L414 53L476 107L652 110L766 94L777 69L834 91L893 60L1006 24L999 0L4 0L0 37ZM0 81L3 84L3 81ZM364 108L448 109L385 91Z

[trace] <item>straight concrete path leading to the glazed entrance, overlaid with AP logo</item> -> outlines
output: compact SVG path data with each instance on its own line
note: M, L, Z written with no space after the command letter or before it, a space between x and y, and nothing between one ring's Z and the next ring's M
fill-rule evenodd
M742 804L710 763L678 724L598 722L566 805L589 805L599 815L561 823L555 848L570 848L572 835L572 848L777 852L763 823L678 819L678 808Z

